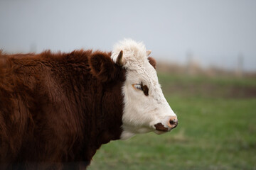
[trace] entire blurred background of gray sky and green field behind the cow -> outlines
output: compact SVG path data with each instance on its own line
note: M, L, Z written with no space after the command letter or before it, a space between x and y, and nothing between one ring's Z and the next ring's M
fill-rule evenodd
M0 49L143 41L178 127L114 141L89 169L256 169L256 1L1 0Z

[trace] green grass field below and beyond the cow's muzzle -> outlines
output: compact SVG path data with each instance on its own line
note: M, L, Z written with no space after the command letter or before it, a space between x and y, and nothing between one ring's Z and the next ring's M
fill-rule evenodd
M159 81L178 127L102 145L88 169L256 169L256 79Z

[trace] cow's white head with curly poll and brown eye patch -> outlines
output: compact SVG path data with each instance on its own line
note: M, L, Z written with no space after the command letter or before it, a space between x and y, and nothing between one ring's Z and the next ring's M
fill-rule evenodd
M137 133L154 131L161 134L178 125L176 114L161 91L154 61L148 57L150 52L142 42L127 39L114 45L112 50L112 60L127 71L122 87L123 140Z

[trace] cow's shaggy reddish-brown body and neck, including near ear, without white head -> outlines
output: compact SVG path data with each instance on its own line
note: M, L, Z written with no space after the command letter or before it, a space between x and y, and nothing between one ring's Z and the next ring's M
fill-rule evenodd
M110 53L0 54L0 168L78 169L122 133Z

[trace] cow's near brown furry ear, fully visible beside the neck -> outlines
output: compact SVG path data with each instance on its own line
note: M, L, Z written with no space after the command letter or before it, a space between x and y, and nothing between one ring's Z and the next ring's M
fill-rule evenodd
M89 58L91 73L102 82L114 79L116 68L110 55L103 52L95 52Z

